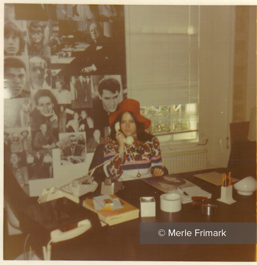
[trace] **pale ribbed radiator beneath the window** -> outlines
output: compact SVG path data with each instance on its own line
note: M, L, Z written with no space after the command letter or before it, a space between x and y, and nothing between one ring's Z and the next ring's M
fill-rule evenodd
M161 151L162 162L169 174L207 169L207 149Z

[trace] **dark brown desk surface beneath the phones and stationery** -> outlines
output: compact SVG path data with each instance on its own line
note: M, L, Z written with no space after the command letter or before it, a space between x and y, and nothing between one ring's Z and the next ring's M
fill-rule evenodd
M52 245L52 260L138 260L138 261L255 261L256 246L240 245L189 245L189 244L139 244L140 222L256 222L256 193L252 196L241 196L233 191L236 203L227 205L217 201L220 197L220 186L194 177L194 174L210 172L204 170L180 174L205 191L212 193L210 203L218 205L215 215L204 215L201 206L182 205L177 213L166 213L160 210L161 191L143 182L132 180L123 182L124 190L116 193L128 203L140 209L140 197L153 196L156 201L156 217L139 217L114 226L97 228L67 242ZM218 170L215 170L218 171ZM220 171L224 172L224 171ZM81 198L97 196L87 194ZM78 205L78 209L80 209ZM44 235L37 233L37 237ZM40 249L40 248L39 248ZM229 249L229 251L227 251ZM42 252L42 251L41 251ZM40 253L39 253L40 254Z

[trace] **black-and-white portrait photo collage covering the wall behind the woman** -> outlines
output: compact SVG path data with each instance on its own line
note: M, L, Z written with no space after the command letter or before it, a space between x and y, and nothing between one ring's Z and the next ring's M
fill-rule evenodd
M5 4L4 162L19 184L85 161L127 97L123 5ZM59 162L60 163L60 162Z

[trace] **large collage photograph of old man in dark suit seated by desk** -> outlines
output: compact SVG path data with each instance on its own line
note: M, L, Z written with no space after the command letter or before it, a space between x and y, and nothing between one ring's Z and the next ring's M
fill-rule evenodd
M124 21L123 21L124 23ZM51 21L53 69L62 74L125 74L125 30L121 21Z

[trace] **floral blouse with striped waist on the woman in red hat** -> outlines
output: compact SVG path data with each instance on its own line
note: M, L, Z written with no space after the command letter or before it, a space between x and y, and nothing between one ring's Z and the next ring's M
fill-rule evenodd
M135 139L132 145L126 144L123 162L118 149L116 140L105 138L105 161L113 158L104 165L107 177L116 177L119 181L148 178L155 167L163 169L160 144L156 137L146 142Z

